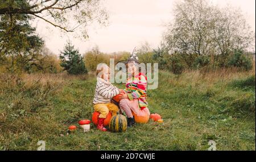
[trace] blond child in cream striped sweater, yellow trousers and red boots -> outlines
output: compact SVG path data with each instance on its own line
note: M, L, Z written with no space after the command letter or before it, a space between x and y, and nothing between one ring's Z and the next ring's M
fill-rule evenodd
M93 99L93 107L95 111L100 113L98 117L97 129L101 131L106 131L104 127L104 120L108 115L109 111L112 112L112 115L117 115L118 106L114 103L110 103L111 98L119 94L123 90L118 89L116 86L113 86L109 82L110 73L109 67L106 64L100 64L101 68L98 70L97 67L97 84Z

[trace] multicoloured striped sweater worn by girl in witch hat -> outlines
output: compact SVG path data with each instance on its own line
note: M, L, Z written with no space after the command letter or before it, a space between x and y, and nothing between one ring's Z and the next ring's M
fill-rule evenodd
M135 77L130 77L126 81L126 89L130 100L138 99L139 107L144 109L148 106L147 99L147 77L139 73Z

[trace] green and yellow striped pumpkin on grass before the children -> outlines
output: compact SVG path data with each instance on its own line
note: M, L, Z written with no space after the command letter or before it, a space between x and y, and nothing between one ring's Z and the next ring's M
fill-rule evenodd
M125 132L127 120L123 115L114 115L109 122L109 130L112 132Z

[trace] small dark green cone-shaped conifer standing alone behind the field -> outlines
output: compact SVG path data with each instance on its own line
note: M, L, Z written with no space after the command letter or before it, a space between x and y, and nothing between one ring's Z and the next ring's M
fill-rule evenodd
M67 70L69 74L87 73L84 61L82 61L82 56L71 44L71 41L68 41L64 47L64 51L60 52L60 60L60 66L63 67L64 70Z

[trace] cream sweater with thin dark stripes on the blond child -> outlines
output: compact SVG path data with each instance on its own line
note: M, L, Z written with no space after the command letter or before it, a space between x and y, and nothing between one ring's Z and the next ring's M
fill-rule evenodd
M113 86L110 82L97 77L93 104L109 103L111 98L119 93L119 89L116 86Z

